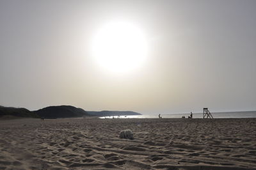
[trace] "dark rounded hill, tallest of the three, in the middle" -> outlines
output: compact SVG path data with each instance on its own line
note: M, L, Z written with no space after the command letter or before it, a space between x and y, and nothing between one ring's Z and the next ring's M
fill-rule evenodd
M49 106L34 112L42 118L78 118L89 116L83 109L71 105Z

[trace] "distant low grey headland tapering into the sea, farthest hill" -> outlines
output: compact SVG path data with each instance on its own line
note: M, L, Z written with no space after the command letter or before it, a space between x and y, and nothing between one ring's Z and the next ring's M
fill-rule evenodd
M90 116L129 116L129 115L141 115L138 112L132 112L132 111L87 111Z

